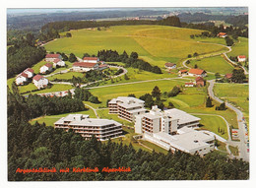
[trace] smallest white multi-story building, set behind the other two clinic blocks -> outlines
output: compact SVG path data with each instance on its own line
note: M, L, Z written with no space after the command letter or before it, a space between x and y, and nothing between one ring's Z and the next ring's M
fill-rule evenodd
M119 118L134 121L135 115L144 114L144 101L131 96L118 96L108 102L109 113L118 114Z

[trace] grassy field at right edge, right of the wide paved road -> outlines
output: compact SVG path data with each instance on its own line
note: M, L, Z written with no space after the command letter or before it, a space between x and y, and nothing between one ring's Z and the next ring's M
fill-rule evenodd
M214 92L221 99L227 100L240 108L249 123L249 85L216 84Z

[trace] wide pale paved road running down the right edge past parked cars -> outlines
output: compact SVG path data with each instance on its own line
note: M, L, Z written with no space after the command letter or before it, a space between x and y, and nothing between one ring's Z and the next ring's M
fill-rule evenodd
M209 88L208 88L208 94L213 99L223 103L224 101L214 94L215 81L211 80L211 81L208 81L208 82L210 83ZM228 102L225 102L225 106L228 107L229 109L233 110L236 113L236 117L237 117L237 123L238 123L238 129L239 129L238 136L239 136L240 142L232 142L232 144L238 146L238 148L239 148L239 157L243 158L246 161L249 161L249 153L247 152L248 148L247 148L247 145L246 145L248 138L247 138L247 136L245 136L246 130L245 130L245 126L244 126L244 121L242 120L243 114L239 109L237 109L236 107L234 107L233 105L231 105ZM229 141L228 143L230 143L230 142L231 141Z

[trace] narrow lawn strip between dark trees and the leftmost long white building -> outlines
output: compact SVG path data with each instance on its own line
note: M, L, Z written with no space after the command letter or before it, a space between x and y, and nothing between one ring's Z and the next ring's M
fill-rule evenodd
M60 119L61 117L66 117L68 114L87 114L90 115L91 118L96 118L96 114L92 109L88 109L85 111L78 111L78 112L73 112L73 113L63 113L63 114L59 114L59 115L46 115L46 116L42 116L42 117L37 117L35 119L32 119L30 121L31 124L34 124L35 121L37 121L38 123L42 123L44 122L47 126L54 126L54 123Z

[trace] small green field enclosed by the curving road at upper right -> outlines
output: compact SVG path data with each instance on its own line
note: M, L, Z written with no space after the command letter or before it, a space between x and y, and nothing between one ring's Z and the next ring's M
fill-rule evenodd
M204 69L213 73L226 74L231 73L233 66L227 63L222 56L209 57L204 59L192 60L188 65L190 67L198 66L200 69Z

